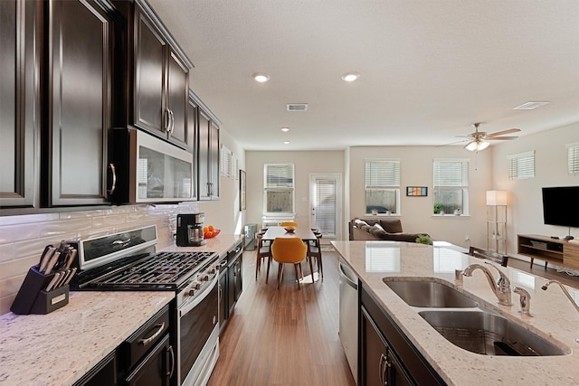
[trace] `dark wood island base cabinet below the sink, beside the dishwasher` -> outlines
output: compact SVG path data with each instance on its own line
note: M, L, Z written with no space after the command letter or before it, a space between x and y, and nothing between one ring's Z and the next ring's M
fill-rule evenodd
M445 385L364 287L360 297L358 385Z

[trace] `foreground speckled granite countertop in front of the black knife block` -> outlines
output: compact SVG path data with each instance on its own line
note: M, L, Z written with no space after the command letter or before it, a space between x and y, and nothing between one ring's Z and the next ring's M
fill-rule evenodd
M174 297L71 292L50 314L0 316L0 385L71 385Z

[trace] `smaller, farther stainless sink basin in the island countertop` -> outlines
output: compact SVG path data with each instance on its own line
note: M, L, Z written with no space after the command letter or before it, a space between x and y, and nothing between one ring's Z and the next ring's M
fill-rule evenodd
M432 308L479 306L470 297L438 281L423 281L423 278L421 280L383 278L382 280L409 306Z

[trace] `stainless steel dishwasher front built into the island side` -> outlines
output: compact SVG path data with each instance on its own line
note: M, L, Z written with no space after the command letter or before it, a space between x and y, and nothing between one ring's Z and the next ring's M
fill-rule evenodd
M358 382L358 278L343 259L340 270L340 326L339 336L346 359Z

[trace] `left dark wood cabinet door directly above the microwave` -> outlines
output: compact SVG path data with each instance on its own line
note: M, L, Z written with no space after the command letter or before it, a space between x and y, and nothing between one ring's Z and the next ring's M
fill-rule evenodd
M134 123L157 136L166 137L169 112L165 106L166 40L155 24L135 10Z

